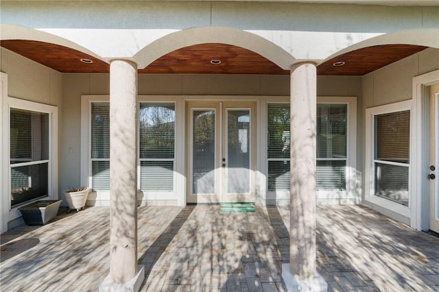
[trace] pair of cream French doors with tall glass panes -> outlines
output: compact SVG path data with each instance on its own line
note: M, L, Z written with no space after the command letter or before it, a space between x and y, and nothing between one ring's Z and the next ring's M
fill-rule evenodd
M254 202L253 101L187 103L187 202Z

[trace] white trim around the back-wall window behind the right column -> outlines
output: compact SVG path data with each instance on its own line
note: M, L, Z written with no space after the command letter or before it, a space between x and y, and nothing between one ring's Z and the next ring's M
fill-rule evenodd
M259 106L258 132L267 131L267 110L268 104L289 104L290 97L262 97ZM347 159L346 159L346 190L321 190L316 192L316 199L327 204L359 204L361 202L361 175L357 171L357 97L317 97L317 104L346 104L347 109ZM266 135L258 135L259 145L267 145ZM264 199L289 199L289 191L267 191L268 179L268 157L266 147L263 153L258 156L258 178L257 189L259 193L266 193Z

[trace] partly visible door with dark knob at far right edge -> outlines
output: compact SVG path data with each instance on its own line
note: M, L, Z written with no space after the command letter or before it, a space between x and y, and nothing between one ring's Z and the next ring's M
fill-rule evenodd
M430 90L430 219L429 229L439 233L439 84Z

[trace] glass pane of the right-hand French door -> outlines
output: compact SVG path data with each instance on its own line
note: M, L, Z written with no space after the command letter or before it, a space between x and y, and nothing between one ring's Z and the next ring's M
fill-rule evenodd
M227 156L227 193L250 193L250 110L228 110Z

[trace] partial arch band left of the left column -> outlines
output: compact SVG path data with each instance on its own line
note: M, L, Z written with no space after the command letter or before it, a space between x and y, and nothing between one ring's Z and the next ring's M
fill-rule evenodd
M82 53L86 53L89 56L102 60L103 62L109 63L107 60L105 60L105 58L97 55L97 53L94 53L93 51L86 49L85 47L82 47L71 40L67 40L61 36L56 36L48 32L42 32L38 29L0 24L0 31L0 40L36 40L39 42L48 42L54 45L75 49Z

